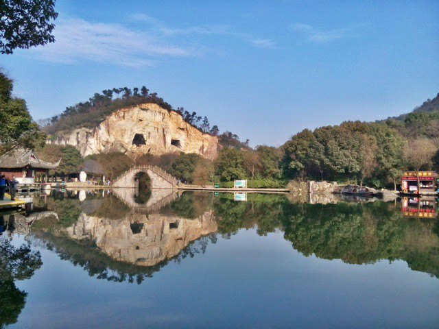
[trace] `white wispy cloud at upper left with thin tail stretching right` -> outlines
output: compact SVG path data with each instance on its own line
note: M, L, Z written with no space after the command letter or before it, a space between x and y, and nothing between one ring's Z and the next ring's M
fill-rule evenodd
M177 45L185 39L194 39L195 35L228 36L249 42L254 47L274 47L272 40L239 34L226 25L171 28L145 14L136 14L132 20L147 23L148 26L132 29L121 24L62 19L54 30L56 42L36 47L29 53L48 62L75 64L86 60L122 66L150 66L163 56L202 56L200 49L205 49L202 45L196 49L195 46Z

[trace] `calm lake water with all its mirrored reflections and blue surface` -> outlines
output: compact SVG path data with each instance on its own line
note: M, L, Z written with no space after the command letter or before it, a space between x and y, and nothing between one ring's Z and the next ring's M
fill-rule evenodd
M439 327L435 199L127 191L53 191L13 215L0 239L43 264L0 295L0 324Z

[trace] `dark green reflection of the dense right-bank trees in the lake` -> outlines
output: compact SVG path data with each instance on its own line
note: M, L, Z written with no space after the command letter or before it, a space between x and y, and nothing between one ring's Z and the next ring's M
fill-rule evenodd
M439 275L439 240L431 220L404 219L383 202L287 208L285 239L305 256L351 264L402 259L414 270Z

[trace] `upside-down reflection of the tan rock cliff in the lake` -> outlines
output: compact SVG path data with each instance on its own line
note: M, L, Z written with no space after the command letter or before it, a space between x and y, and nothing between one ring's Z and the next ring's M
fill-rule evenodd
M115 260L152 266L178 255L191 241L217 230L211 211L198 219L130 214L121 220L80 215L65 232L71 239L91 239Z

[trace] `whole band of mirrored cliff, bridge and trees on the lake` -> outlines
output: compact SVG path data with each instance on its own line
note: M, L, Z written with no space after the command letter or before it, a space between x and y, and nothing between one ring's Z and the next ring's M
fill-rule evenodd
M437 214L436 199L385 203L248 193L237 201L227 193L168 191L162 199L149 195L143 207L133 208L131 200L139 200L135 191L132 196L121 191L85 193L85 199L80 191L64 191L42 204L36 200L44 215L32 219L35 212L22 221L25 225L32 219L27 233L33 239L97 278L141 282L169 260L204 253L217 234L233 239L243 228L256 228L259 235L280 230L304 256L349 264L405 260L413 270L439 276L437 215L406 216L409 209ZM153 197L154 204L145 206Z

